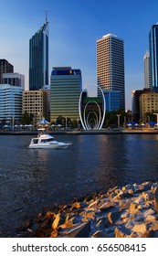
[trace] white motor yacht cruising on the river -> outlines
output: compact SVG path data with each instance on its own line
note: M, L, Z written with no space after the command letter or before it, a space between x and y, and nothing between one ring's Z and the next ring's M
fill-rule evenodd
M37 138L31 140L31 143L28 145L29 148L64 149L70 145L70 143L57 142L54 137L46 133L45 128L40 128L37 131Z

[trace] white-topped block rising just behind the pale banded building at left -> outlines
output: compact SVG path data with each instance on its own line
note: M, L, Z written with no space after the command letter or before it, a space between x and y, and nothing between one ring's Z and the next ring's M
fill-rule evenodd
M25 76L19 73L5 73L3 74L3 83L13 86L19 86L25 90Z

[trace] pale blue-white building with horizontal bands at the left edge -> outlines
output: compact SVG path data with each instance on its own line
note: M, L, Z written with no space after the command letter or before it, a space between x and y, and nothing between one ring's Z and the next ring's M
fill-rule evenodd
M19 123L22 117L22 94L21 87L8 84L0 85L0 123Z

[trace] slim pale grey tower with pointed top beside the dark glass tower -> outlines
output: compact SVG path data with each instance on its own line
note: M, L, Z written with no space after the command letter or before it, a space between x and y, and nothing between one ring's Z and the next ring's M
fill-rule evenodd
M143 57L144 64L144 88L151 88L150 53L147 50Z

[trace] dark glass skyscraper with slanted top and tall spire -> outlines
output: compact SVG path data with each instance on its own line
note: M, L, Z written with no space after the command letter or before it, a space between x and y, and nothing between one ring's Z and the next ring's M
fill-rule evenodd
M48 21L29 40L29 90L48 85Z

